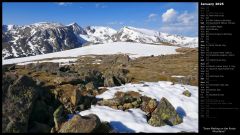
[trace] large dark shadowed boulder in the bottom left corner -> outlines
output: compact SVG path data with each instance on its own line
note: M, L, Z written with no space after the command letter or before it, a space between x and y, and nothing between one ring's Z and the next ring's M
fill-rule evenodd
M27 132L38 90L35 82L27 76L20 76L10 84L2 99L2 132Z

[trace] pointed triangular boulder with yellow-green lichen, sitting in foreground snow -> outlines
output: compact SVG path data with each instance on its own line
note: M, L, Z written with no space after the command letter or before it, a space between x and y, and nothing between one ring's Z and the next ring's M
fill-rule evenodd
M164 125L177 125L182 123L182 118L177 114L175 108L166 99L162 98L157 108L152 112L148 123L152 126L159 127Z

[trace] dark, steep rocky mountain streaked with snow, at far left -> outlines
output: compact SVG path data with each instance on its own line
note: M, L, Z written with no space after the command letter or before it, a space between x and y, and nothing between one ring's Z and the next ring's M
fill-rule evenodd
M41 22L25 26L3 25L2 28L3 58L58 52L81 47L87 42L76 36L84 33L78 25Z

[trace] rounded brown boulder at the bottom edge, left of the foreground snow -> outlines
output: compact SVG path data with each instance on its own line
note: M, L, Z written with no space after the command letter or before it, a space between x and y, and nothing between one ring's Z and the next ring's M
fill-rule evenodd
M74 115L72 119L61 125L59 133L92 133L101 125L95 114L86 116Z

